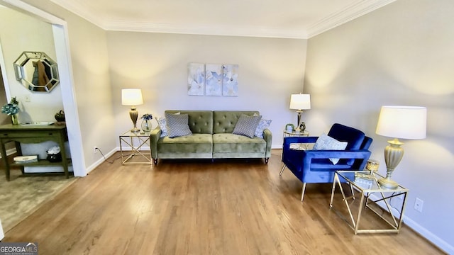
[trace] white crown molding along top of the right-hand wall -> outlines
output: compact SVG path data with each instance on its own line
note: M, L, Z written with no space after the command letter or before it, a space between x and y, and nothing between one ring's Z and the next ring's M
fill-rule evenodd
M341 26L343 23L352 21L355 18L363 16L367 13L377 10L387 4L391 4L396 0L363 0L346 6L343 10L326 16L326 18L314 23L307 28L306 33L308 38L319 35L327 30Z

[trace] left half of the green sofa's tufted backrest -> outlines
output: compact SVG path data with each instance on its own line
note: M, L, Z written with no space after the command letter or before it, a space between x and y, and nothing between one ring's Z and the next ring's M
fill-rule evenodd
M187 114L189 129L194 134L213 134L213 111L167 110L165 113Z

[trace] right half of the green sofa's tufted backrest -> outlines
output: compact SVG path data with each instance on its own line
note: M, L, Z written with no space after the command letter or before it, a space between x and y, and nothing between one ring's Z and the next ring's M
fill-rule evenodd
M258 111L214 111L213 133L219 134L233 132L241 113L244 113L245 115L253 115L254 113L257 113L260 115Z

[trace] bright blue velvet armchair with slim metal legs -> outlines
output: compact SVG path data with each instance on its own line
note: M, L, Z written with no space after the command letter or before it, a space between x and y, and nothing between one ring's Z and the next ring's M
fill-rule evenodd
M364 132L341 124L333 124L328 136L339 142L347 142L345 150L331 149L291 149L293 143L315 143L319 137L284 137L282 148L282 162L303 182L301 201L304 198L306 183L332 183L336 170L363 170L370 157L368 150L372 138L365 136ZM330 159L340 159L333 164Z

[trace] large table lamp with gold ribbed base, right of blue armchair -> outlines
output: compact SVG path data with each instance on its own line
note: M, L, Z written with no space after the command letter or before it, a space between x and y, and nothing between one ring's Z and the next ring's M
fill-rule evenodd
M377 135L392 137L387 147L384 148L384 162L386 163L386 177L378 180L380 186L396 188L397 182L391 179L392 172L397 167L404 149L401 147L402 139L426 138L427 109L420 106L382 106L378 118Z

